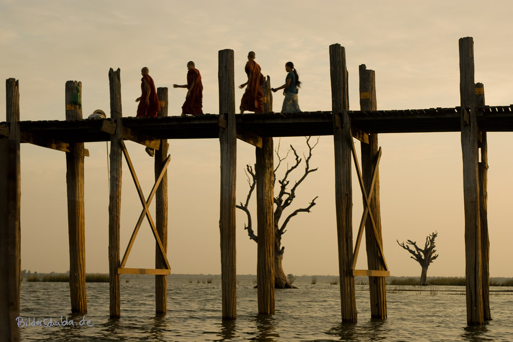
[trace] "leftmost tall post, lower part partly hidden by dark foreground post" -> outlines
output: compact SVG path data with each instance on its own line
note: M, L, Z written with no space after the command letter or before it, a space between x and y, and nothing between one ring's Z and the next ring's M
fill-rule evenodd
M12 221L15 225L15 258L17 263L17 274L16 277L18 279L17 285L17 294L15 301L15 310L19 312L19 291L21 289L22 282L22 253L21 253L21 198L22 198L22 188L21 188L21 166L19 159L19 82L15 79L7 79L5 81L5 89L6 89L6 120L9 124L9 139L15 141L16 144L16 202L14 203L13 212L11 214L14 215Z

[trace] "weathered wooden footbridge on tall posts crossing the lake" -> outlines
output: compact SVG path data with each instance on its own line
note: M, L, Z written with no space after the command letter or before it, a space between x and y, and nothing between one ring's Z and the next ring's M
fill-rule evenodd
M377 110L374 71L360 66L360 109L348 108L345 49L329 47L332 111L235 115L233 50L219 51L220 115L168 117L167 88L157 90L162 110L157 118L122 118L120 70L109 71L110 119L84 120L73 91L81 83L66 83L66 121L20 121L18 81L8 79L7 120L0 123L0 335L15 336L19 315L20 176L19 143L32 143L66 152L70 293L73 312L87 312L84 249L84 142L110 141L109 272L110 316L120 316L120 274L155 274L156 312L166 312L167 278L167 156L168 139L219 138L221 147L221 271L223 319L236 318L235 165L237 139L255 146L258 211L258 311L274 313L273 137L333 135L336 177L336 216L342 321L356 322L354 276L368 275L371 315L386 318L385 278L389 275L382 250L378 134L461 131L465 215L467 322L481 325L491 319L488 301L489 241L487 226L487 131L513 131L513 105L486 106L484 87L474 82L473 40L460 45L460 106L415 110ZM271 99L270 85L266 96ZM271 101L268 101L272 103ZM266 106L269 106L267 104ZM362 166L353 139L362 145ZM148 197L133 172L123 140L156 149L155 184ZM139 192L142 213L123 259L120 257L121 172L125 155ZM479 156L481 156L481 161ZM364 200L359 233L353 244L351 167L354 161ZM156 200L156 221L149 213ZM139 226L147 218L156 239L155 269L126 269ZM364 229L366 227L366 229ZM355 270L363 232L368 270Z

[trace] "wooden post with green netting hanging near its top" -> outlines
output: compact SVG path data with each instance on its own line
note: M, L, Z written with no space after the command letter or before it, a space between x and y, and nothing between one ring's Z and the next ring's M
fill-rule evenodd
M65 87L66 121L82 119L82 82ZM84 216L84 143L70 143L66 153L68 193L69 292L71 312L87 312Z

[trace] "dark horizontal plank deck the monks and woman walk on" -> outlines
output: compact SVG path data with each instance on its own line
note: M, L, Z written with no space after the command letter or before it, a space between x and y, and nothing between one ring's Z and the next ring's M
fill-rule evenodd
M459 132L460 107L349 111L352 127L370 133ZM489 132L513 131L513 105L486 106L477 109L480 129ZM236 115L237 128L261 137L326 136L333 134L331 111L300 113L261 113ZM221 125L223 123L221 122ZM27 136L62 142L109 141L115 125L109 119L71 121L20 121ZM219 115L166 118L123 118L130 134L153 139L219 138ZM0 137L7 137L5 122ZM22 141L23 142L23 141ZM26 141L30 142L30 141Z

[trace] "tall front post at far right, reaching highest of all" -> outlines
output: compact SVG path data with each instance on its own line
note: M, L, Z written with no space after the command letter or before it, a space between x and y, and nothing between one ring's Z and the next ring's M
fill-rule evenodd
M482 325L483 288L481 267L481 217L478 175L478 125L474 89L472 37L460 38L461 150L465 211L465 274L467 324Z

